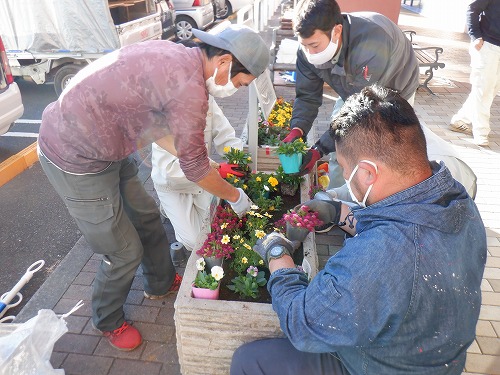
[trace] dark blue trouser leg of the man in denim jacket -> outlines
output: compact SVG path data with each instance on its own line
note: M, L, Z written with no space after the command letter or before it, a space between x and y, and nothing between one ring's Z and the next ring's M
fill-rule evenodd
M240 346L233 354L231 375L349 375L332 353L306 353L283 339L265 339Z

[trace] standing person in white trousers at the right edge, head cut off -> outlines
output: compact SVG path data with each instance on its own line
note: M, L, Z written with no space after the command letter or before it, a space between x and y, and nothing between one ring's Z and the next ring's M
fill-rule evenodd
M491 104L500 91L500 1L472 1L467 9L467 28L472 87L452 117L450 129L473 135L478 146L488 146Z

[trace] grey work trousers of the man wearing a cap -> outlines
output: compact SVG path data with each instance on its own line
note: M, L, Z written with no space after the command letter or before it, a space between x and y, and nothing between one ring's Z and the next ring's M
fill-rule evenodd
M131 157L88 175L66 173L39 157L92 250L103 255L92 288L92 319L101 331L115 330L125 320L123 305L139 264L150 294L165 294L175 277L156 202Z

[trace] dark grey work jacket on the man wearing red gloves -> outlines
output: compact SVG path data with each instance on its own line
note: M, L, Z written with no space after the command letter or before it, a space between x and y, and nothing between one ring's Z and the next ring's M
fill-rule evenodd
M373 12L343 14L342 47L338 62L319 67L297 52L296 99L292 128L311 130L327 83L345 101L365 86L378 83L409 99L418 87L418 61L408 38L387 17ZM335 150L328 132L318 144L324 154Z

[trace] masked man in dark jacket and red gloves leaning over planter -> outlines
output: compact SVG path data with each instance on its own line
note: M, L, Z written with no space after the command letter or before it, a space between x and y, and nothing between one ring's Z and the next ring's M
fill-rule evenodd
M397 90L413 105L418 61L411 42L387 17L372 12L343 14L335 0L302 0L296 7L294 31L301 48L291 131L285 142L310 131L322 104L324 83L340 96L332 118L348 96L374 83ZM325 133L305 155L300 173L308 173L318 159L333 151L335 145ZM344 180L335 154L331 159L330 186L340 186Z

